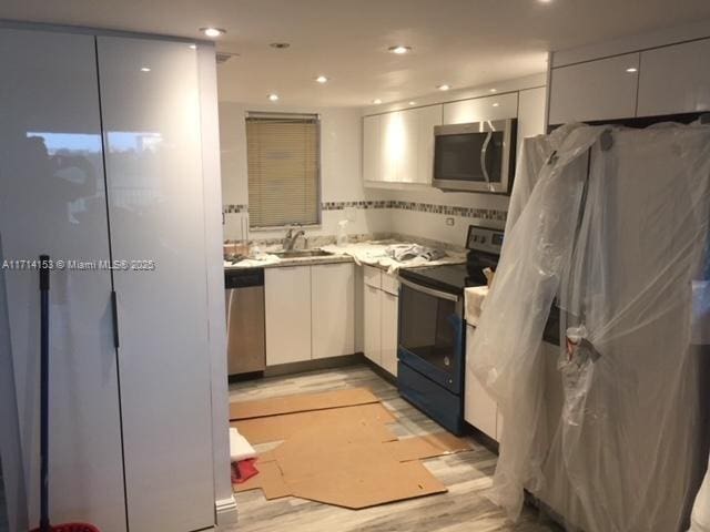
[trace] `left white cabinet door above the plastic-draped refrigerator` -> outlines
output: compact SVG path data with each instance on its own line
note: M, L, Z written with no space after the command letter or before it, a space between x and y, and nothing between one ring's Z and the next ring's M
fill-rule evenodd
M639 54L629 53L554 69L549 123L636 116L638 68Z

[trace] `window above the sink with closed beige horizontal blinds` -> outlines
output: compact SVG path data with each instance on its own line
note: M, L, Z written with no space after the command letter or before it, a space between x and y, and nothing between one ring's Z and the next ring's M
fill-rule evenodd
M251 227L321 222L318 136L315 114L247 115Z

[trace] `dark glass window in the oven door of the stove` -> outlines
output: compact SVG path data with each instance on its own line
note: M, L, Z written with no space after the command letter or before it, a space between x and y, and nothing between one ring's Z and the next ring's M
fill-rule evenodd
M399 346L442 371L457 374L463 349L460 304L402 286Z

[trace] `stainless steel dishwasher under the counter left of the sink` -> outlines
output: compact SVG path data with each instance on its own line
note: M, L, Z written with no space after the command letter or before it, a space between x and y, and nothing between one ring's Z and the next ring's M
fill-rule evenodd
M264 270L234 268L224 272L226 288L226 352L230 375L264 371L266 339Z

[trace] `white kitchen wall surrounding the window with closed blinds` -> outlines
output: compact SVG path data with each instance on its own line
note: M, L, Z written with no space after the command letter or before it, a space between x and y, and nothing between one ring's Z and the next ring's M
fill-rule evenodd
M220 102L222 203L224 205L248 204L244 121L247 111L283 111L321 115L322 202L357 202L382 196L376 191L366 191L363 187L362 120L358 109L287 108L273 104L258 108L235 102ZM389 212L386 209L323 211L322 214L321 227L307 229L308 235L335 235L337 222L347 214L354 215L354 219L348 225L351 234L387 231L389 224ZM225 239L242 237L242 217L243 215L232 213L225 215ZM251 232L251 237L272 238L281 237L283 234L283 231L257 231Z

